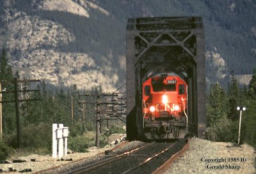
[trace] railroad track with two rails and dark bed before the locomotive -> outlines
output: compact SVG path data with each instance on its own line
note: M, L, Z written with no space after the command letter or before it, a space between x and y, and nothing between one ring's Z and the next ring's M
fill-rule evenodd
M186 145L182 139L174 143L147 143L116 156L109 156L97 163L67 171L71 173L152 173Z

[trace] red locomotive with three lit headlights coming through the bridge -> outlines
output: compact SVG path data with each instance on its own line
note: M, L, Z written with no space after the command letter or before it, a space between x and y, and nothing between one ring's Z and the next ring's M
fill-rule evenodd
M142 89L147 139L183 138L188 127L186 82L177 75L159 75L148 78Z

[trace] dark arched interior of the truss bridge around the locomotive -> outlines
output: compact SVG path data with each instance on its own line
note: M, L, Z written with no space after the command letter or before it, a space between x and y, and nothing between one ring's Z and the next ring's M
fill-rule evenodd
M160 46L162 47L162 46ZM197 94L196 94L196 62L193 56L186 53L182 47L174 45L166 48L156 46L148 49L141 55L135 64L136 67L136 106L137 114L143 115L139 108L142 108L142 84L151 76L158 74L175 74L180 76L188 84L188 130L197 134ZM138 117L138 126L143 125L142 117ZM141 128L142 129L142 128Z

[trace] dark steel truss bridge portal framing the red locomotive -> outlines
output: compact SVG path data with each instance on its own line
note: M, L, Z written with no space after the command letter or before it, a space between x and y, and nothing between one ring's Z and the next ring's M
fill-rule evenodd
M206 119L202 18L131 18L127 24L126 47L127 122L132 125L127 124L127 137L143 134L143 119L140 117L143 82L150 76L168 73L179 75L187 83L188 130L203 137Z

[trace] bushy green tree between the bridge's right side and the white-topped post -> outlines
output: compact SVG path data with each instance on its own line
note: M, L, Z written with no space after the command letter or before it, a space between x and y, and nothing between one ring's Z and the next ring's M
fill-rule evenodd
M236 80L233 82L232 85L234 86L232 88L234 89L229 89L228 95L238 90ZM237 122L228 119L228 114L232 111L228 110L229 102L231 102L228 95L218 83L212 85L209 94L207 94L207 130L205 132L207 140L229 142L237 140Z

